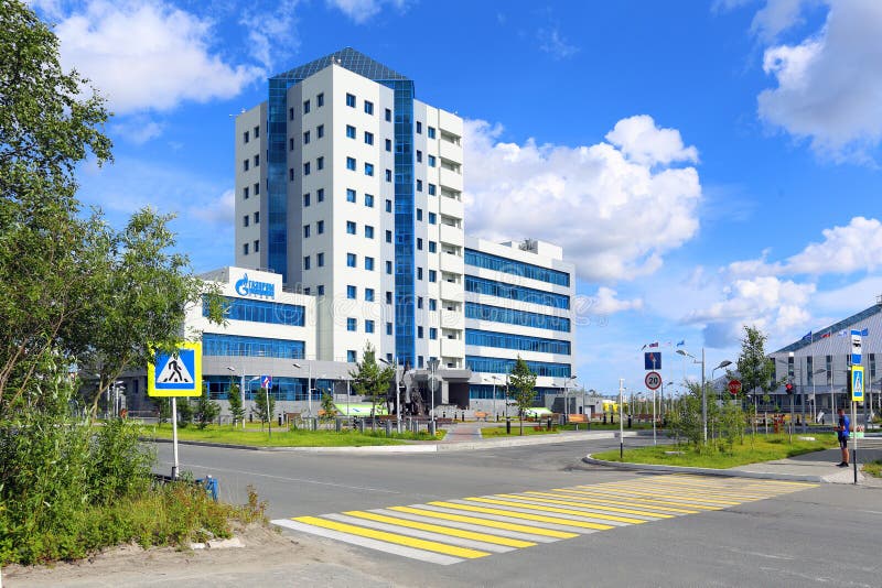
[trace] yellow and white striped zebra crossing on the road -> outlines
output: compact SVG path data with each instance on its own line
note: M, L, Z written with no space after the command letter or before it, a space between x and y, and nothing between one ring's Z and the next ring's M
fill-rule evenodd
M727 509L817 484L691 475L279 519L273 524L439 565Z

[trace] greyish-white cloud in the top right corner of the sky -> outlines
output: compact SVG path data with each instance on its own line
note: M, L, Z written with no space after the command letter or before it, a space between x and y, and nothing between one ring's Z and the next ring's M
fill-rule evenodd
M810 140L820 155L865 161L868 150L882 141L880 39L882 2L831 2L817 34L766 48L763 69L777 87L760 94L760 117Z

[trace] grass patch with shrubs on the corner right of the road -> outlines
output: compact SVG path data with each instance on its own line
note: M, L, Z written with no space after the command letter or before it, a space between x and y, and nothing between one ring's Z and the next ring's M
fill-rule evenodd
M794 457L837 446L836 436L829 433L813 434L816 439L814 442L797 440L796 437L794 436L794 440L790 444L787 443L787 435L768 435L767 437L765 435L756 435L755 440L751 443L751 437L746 435L744 444L735 443L731 453L728 448L713 449L711 447L698 453L695 447L676 445L626 448L624 461L725 469L746 464ZM627 442L625 444L627 445ZM665 451L684 451L684 454L666 455ZM620 461L617 449L593 454L592 457L606 461Z

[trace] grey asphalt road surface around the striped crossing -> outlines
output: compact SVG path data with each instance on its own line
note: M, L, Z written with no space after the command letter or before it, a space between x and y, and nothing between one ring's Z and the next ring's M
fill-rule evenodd
M226 500L244 500L245 487L252 483L269 501L273 519L604 482L657 486L659 493L670 492L668 476L580 461L588 451L616 446L614 439L606 439L387 456L181 446L180 455L182 469L217 477ZM170 449L159 446L165 467L170 467ZM390 581L405 586L878 587L882 586L881 524L882 491L822 484L455 565L346 548L380 563Z

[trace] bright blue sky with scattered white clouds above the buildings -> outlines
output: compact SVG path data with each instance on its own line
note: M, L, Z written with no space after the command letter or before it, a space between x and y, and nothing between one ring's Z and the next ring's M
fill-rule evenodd
M578 385L772 351L882 294L882 2L31 0L115 116L80 198L234 260L234 119L345 46L465 119L465 230L561 244ZM677 344L681 342L678 347ZM718 372L719 375L719 372Z

